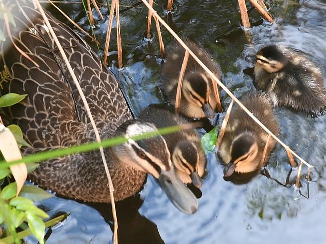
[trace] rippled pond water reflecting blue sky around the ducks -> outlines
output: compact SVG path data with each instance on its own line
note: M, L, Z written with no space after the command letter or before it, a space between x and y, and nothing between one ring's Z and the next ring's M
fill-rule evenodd
M163 102L158 84L161 59L155 29L149 42L143 39L147 9L137 2L120 1L124 68L118 70L115 22L110 47L110 67L121 81L137 114L151 103ZM326 67L326 2L266 1L276 17L274 24L259 22L260 16L250 10L251 43L239 28L238 2L221 0L176 0L167 19L179 36L188 37L208 49L221 65L226 86L237 97L255 88L252 78L243 73L253 67L250 57L265 44L282 43L302 50L321 67ZM156 1L154 8L165 16L166 1ZM61 4L68 15L89 30L80 4ZM249 6L248 6L249 7ZM53 10L53 9L51 9ZM107 8L101 9L105 20L99 20L96 38L103 55ZM52 11L52 13L54 13ZM58 13L55 14L64 20ZM67 23L66 20L64 22ZM154 25L152 25L154 27ZM166 47L173 37L162 28ZM93 45L94 50L97 49ZM230 98L222 92L226 108ZM140 195L117 203L119 243L326 243L326 116L307 118L283 108L274 112L281 127L280 138L302 158L312 164L312 182L305 180L303 168L300 194L265 176L247 185L236 186L223 180L223 167L214 153L208 155L208 176L203 182L199 210L192 216L179 212L151 177ZM224 113L220 114L220 121ZM285 183L291 167L285 150L277 145L267 170ZM297 169L290 180L295 181ZM54 197L40 202L49 215L69 212L70 216L48 232L47 243L111 243L112 217L109 204L83 204ZM27 239L34 242L32 237Z

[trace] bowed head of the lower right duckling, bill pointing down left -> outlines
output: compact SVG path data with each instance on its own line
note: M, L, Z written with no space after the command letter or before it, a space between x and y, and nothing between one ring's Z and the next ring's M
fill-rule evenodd
M256 174L259 169L260 160L258 156L258 143L250 133L243 133L237 136L231 143L230 162L224 168L224 177L228 178L237 175ZM230 178L231 181L232 178Z

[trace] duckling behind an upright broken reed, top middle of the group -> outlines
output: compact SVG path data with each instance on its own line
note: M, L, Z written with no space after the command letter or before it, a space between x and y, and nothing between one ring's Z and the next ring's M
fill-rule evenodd
M191 51L221 80L219 65L211 55L192 41L185 41ZM179 73L184 59L185 49L175 44L168 54L162 69L162 90L171 105L175 105ZM189 56L182 89L180 112L190 118L213 118L217 101L214 96L210 76Z

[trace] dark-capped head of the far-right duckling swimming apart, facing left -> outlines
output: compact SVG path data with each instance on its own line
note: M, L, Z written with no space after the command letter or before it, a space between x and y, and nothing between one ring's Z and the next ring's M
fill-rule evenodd
M269 45L258 51L256 65L268 73L274 73L283 69L288 61L281 46Z

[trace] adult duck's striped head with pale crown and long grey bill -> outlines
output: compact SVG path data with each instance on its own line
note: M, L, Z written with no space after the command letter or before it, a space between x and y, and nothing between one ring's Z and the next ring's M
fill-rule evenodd
M157 128L151 123L135 120L125 122L118 128L117 134L124 135L128 141L115 146L115 153L121 162L151 174L177 209L193 214L198 209L197 199L176 176L163 137L155 135L141 140L133 139L135 136L156 131Z

